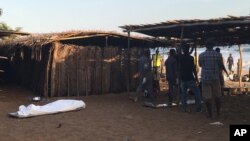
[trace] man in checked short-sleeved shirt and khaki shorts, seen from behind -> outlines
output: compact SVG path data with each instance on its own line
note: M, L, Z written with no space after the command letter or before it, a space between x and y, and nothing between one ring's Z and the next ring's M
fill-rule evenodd
M221 87L219 80L219 69L222 67L220 54L213 50L214 41L206 41L207 50L200 54L199 65L201 70L202 95L206 102L208 118L212 118L212 100L215 98L217 116L220 116Z

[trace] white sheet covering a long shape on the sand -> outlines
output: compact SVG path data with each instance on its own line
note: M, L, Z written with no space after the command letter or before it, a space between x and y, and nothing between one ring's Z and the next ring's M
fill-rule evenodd
M54 114L60 112L67 112L86 108L86 104L82 100L57 100L55 102L36 106L30 104L27 107L24 105L19 106L19 110L15 113L9 113L9 115L19 118Z

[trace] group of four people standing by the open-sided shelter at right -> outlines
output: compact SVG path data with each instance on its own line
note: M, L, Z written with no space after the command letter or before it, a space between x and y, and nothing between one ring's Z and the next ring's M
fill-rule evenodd
M205 101L208 117L213 117L212 101L215 102L217 116L220 116L222 86L224 81L221 81L222 71L228 72L225 69L223 58L220 50L214 50L213 39L208 39L205 43L206 51L199 55L198 64L201 70L201 82L198 80L194 57L191 56L190 45L183 44L181 46L182 53L176 53L175 49L170 49L169 56L165 61L166 80L168 82L169 91L167 93L168 105L172 105L173 97L176 91L180 91L181 107L184 112L189 112L187 104L188 89L191 90L195 97L196 112L201 112L201 99ZM154 69L154 71L158 71ZM230 70L231 71L231 70ZM154 101L154 75L152 73L152 60L150 59L150 51L147 50L139 59L139 85L136 90L134 101L142 90L146 90L148 100ZM180 84L180 89L178 87ZM201 90L198 87L201 84ZM202 93L202 96L201 96Z

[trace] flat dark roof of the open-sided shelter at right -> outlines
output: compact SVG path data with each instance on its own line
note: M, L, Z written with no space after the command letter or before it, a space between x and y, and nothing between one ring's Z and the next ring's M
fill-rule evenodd
M125 32L138 32L153 37L175 38L199 42L215 38L216 45L250 43L250 16L208 19L172 20L155 24L121 26ZM183 31L183 34L182 34Z

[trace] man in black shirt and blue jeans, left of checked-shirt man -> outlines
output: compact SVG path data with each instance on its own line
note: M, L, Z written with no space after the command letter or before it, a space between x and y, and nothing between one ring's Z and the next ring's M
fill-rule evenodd
M201 112L201 94L197 86L198 76L194 57L189 53L189 45L183 45L183 55L180 57L180 73L181 73L181 103L184 112L187 112L187 89L193 91L195 95L196 112Z

